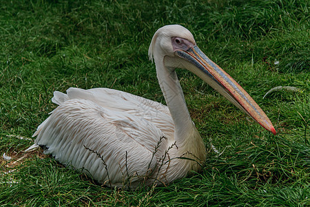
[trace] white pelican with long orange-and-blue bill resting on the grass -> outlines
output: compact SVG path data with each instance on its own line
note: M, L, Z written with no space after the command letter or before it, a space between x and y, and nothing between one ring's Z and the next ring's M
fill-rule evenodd
M59 106L34 132L30 148L41 146L61 164L107 186L167 184L200 170L205 144L187 110L176 68L193 72L276 135L265 112L183 26L159 28L148 55L167 106L109 88L55 91L52 102Z

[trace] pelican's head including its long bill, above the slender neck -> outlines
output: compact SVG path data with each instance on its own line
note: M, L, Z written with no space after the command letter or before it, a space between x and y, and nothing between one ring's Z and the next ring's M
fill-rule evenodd
M175 68L185 68L193 72L263 128L276 135L265 112L227 72L198 48L193 34L183 26L159 28L149 46L149 59L154 59L156 70L168 70L171 74Z

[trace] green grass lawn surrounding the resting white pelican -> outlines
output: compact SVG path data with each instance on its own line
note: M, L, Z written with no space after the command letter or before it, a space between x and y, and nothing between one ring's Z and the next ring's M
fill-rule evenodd
M307 0L1 1L0 152L13 160L0 159L0 205L309 206L309 17ZM107 87L165 103L147 49L171 23L192 31L278 135L178 70L208 150L202 172L130 191L100 186L39 153L12 164L33 143L14 136L31 138L56 107L54 90ZM262 99L276 86L300 90Z

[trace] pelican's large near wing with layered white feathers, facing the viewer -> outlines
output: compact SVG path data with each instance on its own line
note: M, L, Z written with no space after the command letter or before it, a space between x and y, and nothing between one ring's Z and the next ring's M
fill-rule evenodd
M114 186L120 186L126 177L145 175L154 168L153 152L164 136L143 117L103 108L85 99L60 103L35 135L35 143L45 146L45 153L63 164L84 168L101 183L110 175ZM102 159L87 148L98 152Z

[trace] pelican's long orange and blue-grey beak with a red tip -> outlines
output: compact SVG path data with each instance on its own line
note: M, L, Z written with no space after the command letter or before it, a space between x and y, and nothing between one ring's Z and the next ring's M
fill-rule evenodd
M198 46L192 46L188 50L176 50L175 54L186 60L183 66L187 70L194 72L240 110L252 117L263 128L276 135L276 130L273 128L271 121L258 104L227 72L211 61Z

